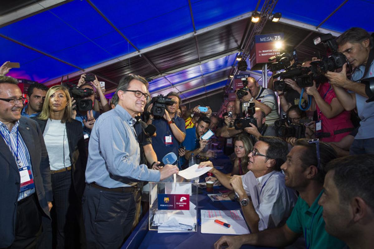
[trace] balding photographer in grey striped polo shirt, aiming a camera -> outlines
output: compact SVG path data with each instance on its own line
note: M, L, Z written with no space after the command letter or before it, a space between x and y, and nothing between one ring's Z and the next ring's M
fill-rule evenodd
M240 104L243 102L254 102L255 107L261 108L266 114L266 123L274 124L275 120L279 119L278 102L275 93L267 88L258 84L253 77L247 78L248 84L245 89L246 95L239 98L236 95L235 99L235 112L240 113ZM240 90L240 89L239 89ZM237 91L239 91L237 90Z

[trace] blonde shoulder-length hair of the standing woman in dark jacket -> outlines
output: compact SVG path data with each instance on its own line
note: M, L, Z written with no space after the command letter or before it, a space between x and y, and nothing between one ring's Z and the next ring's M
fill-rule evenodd
M62 116L61 123L65 123L67 121L70 122L72 120L71 119L72 108L71 108L71 98L70 98L69 90L65 86L62 86L62 85L52 86L51 88L48 89L46 98L43 104L42 112L39 115L39 119L47 120L50 118L49 99L50 99L50 96L53 93L57 92L58 90L62 90L65 93L66 100L67 100L67 105L65 107L65 112L64 112L64 116Z

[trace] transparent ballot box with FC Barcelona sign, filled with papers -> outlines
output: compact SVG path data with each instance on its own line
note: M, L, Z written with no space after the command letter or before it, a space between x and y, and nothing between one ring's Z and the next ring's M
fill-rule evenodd
M150 182L149 230L159 233L197 231L197 184Z

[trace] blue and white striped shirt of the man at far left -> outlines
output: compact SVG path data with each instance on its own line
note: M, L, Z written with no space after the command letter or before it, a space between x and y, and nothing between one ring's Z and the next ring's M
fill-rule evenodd
M0 121L0 133L2 138L4 139L6 145L8 145L9 150L12 152L14 156L14 160L16 161L16 157L21 161L23 166L30 166L31 175L33 175L31 169L31 160L30 154L28 153L28 149L26 147L25 142L22 139L21 134L18 131L19 120L15 123L12 130L9 132L8 127ZM17 155L17 134L18 134L18 155ZM16 161L16 165L18 168L21 168L21 165L18 165ZM32 178L34 178L32 176ZM35 193L35 187L29 190L25 190L19 193L18 201L24 199L25 197L31 196L31 194Z

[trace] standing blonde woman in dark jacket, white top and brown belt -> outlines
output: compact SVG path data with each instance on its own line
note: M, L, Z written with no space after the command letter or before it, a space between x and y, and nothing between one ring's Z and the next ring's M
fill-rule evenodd
M33 118L43 132L49 156L57 248L73 248L77 241L74 236L79 236L80 199L85 187L87 157L83 129L71 113L69 91L58 85L48 90L42 112ZM50 230L48 225L43 223L43 230Z

